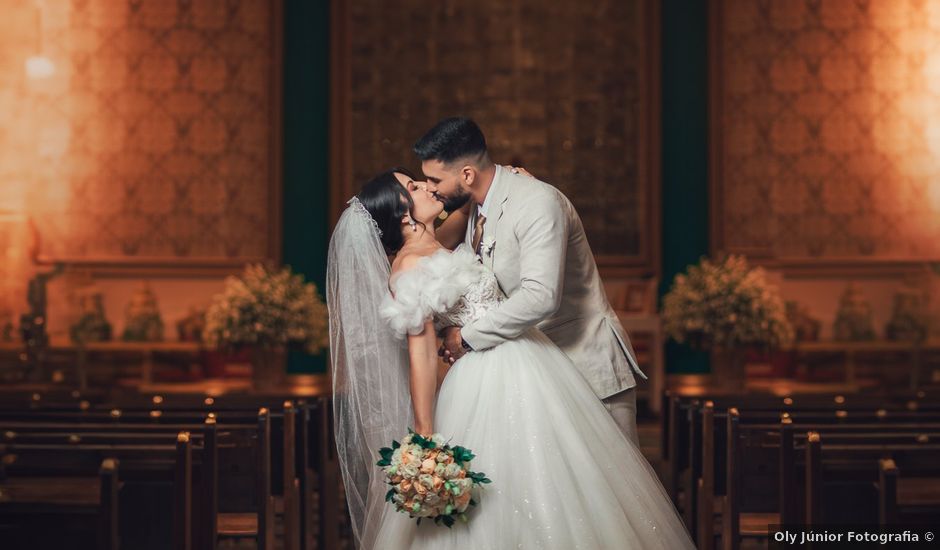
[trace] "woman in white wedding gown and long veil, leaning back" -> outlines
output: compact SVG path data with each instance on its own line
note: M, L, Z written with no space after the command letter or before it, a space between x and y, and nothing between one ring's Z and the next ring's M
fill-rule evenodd
M437 330L505 298L469 247L435 238L442 210L394 169L349 201L330 241L336 443L358 547L694 548L640 450L538 330L466 354L438 391ZM468 522L419 526L385 503L377 450L409 427L476 454L492 483Z

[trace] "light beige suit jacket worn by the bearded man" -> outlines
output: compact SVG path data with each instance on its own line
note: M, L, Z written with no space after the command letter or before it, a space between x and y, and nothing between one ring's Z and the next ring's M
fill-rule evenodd
M558 345L601 399L646 378L607 301L581 218L558 189L498 168L480 255L508 296L499 308L463 327L475 350L489 349L537 327ZM471 209L468 227L476 224ZM472 230L467 232L470 244Z

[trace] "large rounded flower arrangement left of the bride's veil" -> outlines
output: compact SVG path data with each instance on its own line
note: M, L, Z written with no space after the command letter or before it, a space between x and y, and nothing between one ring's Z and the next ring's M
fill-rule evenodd
M329 345L326 306L316 285L289 267L249 265L225 280L206 312L205 335L222 348L302 345L315 354Z

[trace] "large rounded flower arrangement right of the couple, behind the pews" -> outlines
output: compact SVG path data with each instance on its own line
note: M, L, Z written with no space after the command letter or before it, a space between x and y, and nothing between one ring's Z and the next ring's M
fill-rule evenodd
M785 346L793 328L783 300L760 268L741 256L713 262L702 258L676 275L663 298L663 326L677 342L701 339L718 349Z

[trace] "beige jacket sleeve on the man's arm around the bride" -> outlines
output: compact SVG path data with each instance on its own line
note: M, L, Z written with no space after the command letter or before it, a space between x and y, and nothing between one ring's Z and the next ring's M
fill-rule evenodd
M519 288L498 308L461 329L474 350L512 340L561 305L568 244L568 217L556 193L540 193L518 211ZM498 246L498 245L497 245Z

